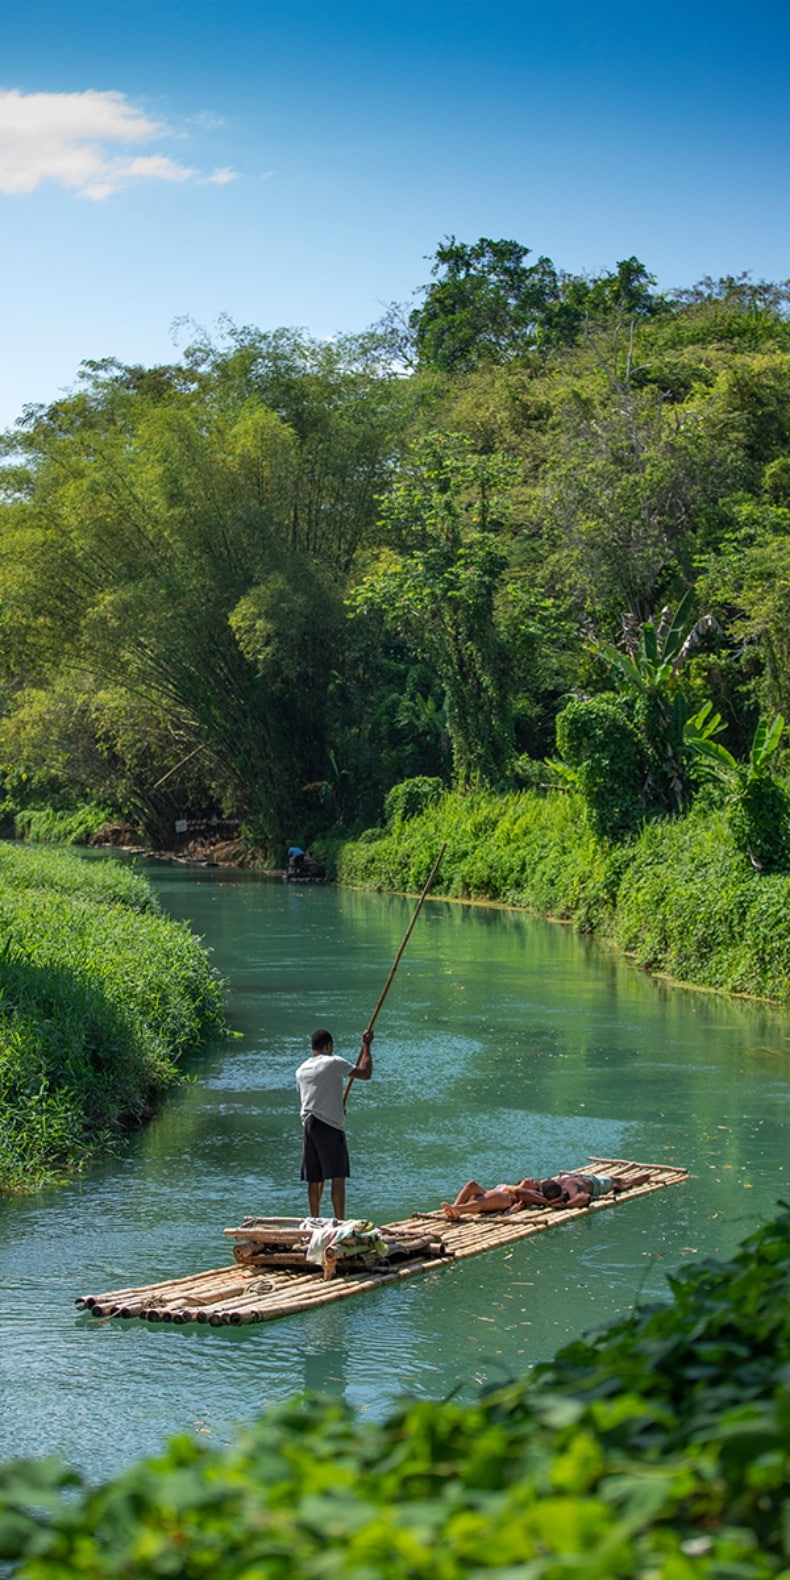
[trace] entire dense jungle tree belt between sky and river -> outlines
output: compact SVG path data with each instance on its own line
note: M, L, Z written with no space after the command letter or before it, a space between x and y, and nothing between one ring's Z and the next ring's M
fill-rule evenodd
M278 860L430 779L604 842L720 806L782 871L788 300L447 239L363 335L85 363L5 439L6 831Z

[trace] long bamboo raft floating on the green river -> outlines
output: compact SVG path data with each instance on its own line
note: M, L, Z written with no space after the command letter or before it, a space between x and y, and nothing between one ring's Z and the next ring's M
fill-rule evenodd
M637 1196L648 1196L689 1179L687 1169L632 1163L626 1158L589 1158L585 1168L567 1172L610 1174L626 1185L635 1174L648 1174L648 1179L623 1194L600 1196L588 1207L485 1213L466 1217L460 1223L449 1223L441 1209L416 1212L379 1231L386 1240L397 1243L403 1261L359 1270L352 1264L349 1270L338 1264L337 1275L329 1280L321 1267L305 1261L310 1232L297 1228L300 1220L246 1218L239 1228L224 1229L235 1240L235 1261L231 1267L215 1267L136 1289L79 1296L76 1305L93 1316L141 1318L147 1322L209 1322L212 1327L272 1322L280 1316L311 1311L332 1300L346 1300L416 1273L438 1270L447 1262L514 1245L515 1240L526 1240L532 1234L619 1207ZM416 1253L409 1255L409 1248Z

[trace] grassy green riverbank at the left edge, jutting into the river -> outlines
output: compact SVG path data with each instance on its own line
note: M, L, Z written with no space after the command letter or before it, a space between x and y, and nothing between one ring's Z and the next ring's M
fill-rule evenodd
M147 1117L221 997L130 867L0 845L0 1191L79 1169Z

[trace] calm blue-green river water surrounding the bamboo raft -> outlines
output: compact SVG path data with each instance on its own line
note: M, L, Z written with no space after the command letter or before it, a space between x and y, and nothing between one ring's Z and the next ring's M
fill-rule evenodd
M231 1438L310 1389L381 1416L472 1397L728 1256L788 1199L790 1018L672 989L564 927L427 904L352 1092L348 1210L382 1223L589 1155L694 1179L359 1300L243 1329L96 1321L79 1294L224 1266L223 1228L303 1210L294 1085L314 1025L354 1057L412 901L147 869L231 983L237 1035L82 1182L0 1207L0 1458L96 1480L177 1431Z

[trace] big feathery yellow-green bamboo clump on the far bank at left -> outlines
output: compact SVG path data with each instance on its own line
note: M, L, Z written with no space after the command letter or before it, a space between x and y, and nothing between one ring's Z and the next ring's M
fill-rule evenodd
M90 788L160 837L190 801L278 836L321 776L341 591L392 466L397 381L348 343L243 332L191 348L179 378L134 371L87 368L13 441L27 476L3 507L6 771L33 806Z

